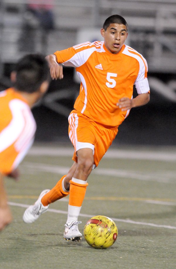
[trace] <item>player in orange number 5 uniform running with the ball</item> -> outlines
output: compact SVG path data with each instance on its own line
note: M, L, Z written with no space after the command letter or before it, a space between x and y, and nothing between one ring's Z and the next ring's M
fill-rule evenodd
M74 163L53 189L44 190L35 204L25 210L23 220L32 223L50 203L70 194L64 232L67 241L82 238L78 216L89 174L111 146L130 109L149 101L147 62L124 44L127 34L125 19L112 15L101 29L104 41L78 44L46 57L53 79L63 77L60 65L63 64L75 67L81 80L79 96L68 118L69 137L75 148ZM133 84L138 93L136 98Z

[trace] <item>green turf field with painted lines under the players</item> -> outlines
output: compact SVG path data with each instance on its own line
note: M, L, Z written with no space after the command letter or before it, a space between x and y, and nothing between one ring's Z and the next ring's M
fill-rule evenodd
M67 173L72 153L35 145L20 165L20 181L6 178L13 223L0 233L0 268L176 268L175 148L111 148L92 171L79 230L95 215L112 218L119 234L108 249L63 240L68 198L23 223L27 205Z

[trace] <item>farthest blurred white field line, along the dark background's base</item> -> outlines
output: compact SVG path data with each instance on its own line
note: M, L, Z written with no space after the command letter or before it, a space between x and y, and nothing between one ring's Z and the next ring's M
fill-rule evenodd
M33 146L28 155L33 156L72 156L74 153L73 148L68 147L44 147ZM136 160L155 160L155 161L176 161L176 152L167 152L165 150L151 151L143 150L126 150L126 149L109 149L103 158L116 158L116 159L136 159Z

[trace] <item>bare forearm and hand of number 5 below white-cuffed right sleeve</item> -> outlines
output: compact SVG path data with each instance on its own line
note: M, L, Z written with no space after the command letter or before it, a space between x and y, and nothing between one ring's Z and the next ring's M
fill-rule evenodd
M121 98L117 103L117 106L121 108L122 111L131 109L137 106L143 106L150 101L150 94L149 93L141 93L136 98L129 99L129 98Z

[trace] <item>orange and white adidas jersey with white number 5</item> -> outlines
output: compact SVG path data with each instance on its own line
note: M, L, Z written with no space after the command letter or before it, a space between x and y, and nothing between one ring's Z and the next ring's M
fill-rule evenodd
M141 54L123 45L118 54L110 53L104 41L86 42L56 51L57 61L76 68L81 80L74 108L106 127L118 127L128 111L117 107L122 97L133 98L133 84L138 94L150 89L147 62Z

